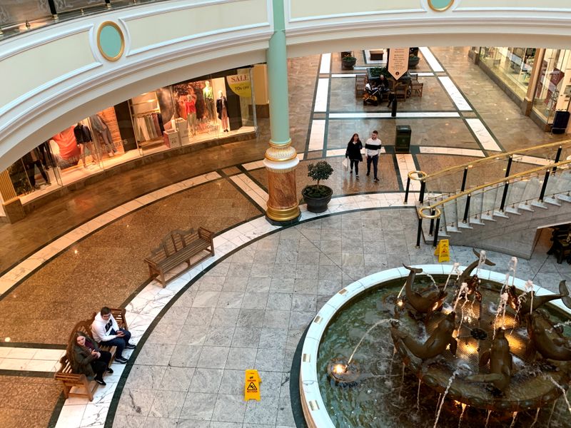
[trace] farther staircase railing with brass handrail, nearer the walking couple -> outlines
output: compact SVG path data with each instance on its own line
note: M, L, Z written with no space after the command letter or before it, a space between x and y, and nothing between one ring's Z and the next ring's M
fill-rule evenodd
M429 205L440 195L454 195L466 188L485 185L493 180L507 178L512 173L527 169L525 164L542 166L557 163L571 155L571 140L542 144L530 148L517 149L506 153L497 153L487 158L475 159L468 163L455 165L435 173L411 171L407 180L405 201L408 201L410 180L420 181L419 202Z

